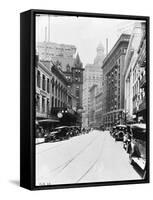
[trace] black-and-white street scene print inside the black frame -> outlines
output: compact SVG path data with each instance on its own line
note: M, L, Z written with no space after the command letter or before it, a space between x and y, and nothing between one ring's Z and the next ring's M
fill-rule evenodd
M35 15L35 185L145 180L146 20Z

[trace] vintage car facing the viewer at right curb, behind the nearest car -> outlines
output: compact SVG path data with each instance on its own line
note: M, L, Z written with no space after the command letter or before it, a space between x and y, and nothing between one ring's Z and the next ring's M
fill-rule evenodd
M127 126L119 124L116 126L116 131L114 133L115 141L123 141L124 134L126 132Z

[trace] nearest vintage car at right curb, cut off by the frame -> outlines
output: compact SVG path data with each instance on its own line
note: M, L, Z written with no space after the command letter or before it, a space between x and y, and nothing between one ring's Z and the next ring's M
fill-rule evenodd
M146 124L131 125L131 142L129 145L131 164L137 164L146 173Z

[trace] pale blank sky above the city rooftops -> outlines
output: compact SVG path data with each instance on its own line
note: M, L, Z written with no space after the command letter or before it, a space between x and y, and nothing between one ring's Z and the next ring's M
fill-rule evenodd
M111 50L122 32L132 29L134 20L50 16L50 42L72 44L77 48L83 65L93 63L96 48L101 42ZM36 40L45 40L45 27L48 29L48 15L36 19ZM48 37L48 36L47 36Z

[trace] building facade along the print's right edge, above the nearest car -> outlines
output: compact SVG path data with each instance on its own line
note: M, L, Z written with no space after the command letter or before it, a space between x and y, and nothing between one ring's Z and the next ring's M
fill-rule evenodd
M137 122L146 123L146 24L141 23L142 38L133 69L133 114Z

